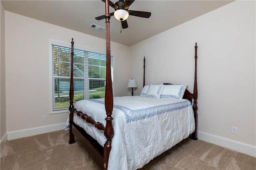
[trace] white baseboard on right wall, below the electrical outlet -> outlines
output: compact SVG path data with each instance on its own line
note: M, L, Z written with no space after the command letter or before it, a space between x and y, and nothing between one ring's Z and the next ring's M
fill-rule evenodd
M235 151L256 157L256 146L254 145L246 144L243 142L239 142L229 138L224 138L222 136L217 136L217 135L202 132L199 130L197 131L197 134L198 134L198 139L200 140L204 140L206 142L216 144L224 148L228 148L231 150L235 150Z

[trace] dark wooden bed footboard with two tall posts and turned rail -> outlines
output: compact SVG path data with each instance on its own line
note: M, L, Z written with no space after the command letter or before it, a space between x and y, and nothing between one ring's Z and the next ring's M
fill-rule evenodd
M92 152L91 154L94 154L94 149L90 149L90 148L94 148L94 143L96 141L90 142L91 140L88 139L90 137L86 137L88 136L88 134L84 131L81 130L80 128L78 128L78 126L76 126L76 124L73 122L73 117L74 117L74 113L77 112L77 114L81 117L83 117L84 120L86 120L86 122L88 123L92 123L96 128L100 129L100 130L104 130L104 135L106 136L106 142L104 144L104 149L102 151L102 149L100 149L100 158L103 158L98 160L98 156L93 156L94 160L96 162L98 162L97 164L100 166L100 168L103 169L108 169L108 158L109 158L109 154L111 151L111 143L112 143L112 138L114 136L114 128L112 125L112 111L113 111L113 91L112 91L112 77L111 77L111 60L110 60L110 14L109 14L109 1L106 0L105 1L105 19L106 19L106 87L105 87L105 110L106 110L106 127L104 127L104 125L102 125L101 123L95 122L91 117L89 117L86 114L83 113L79 113L74 109L74 105L73 105L73 99L74 99L74 84L73 84L73 56L74 56L74 42L73 42L73 38L72 38L72 42L71 42L71 74L70 74L70 107L69 107L69 111L70 111L70 138L69 138L69 144L72 144L75 142L74 140L74 133L76 133L76 136L79 135L79 132L82 131L84 136L86 139L85 143L86 144L86 148L89 148L88 150L90 150L90 152ZM75 128L72 128L72 126L74 126ZM76 130L75 130L76 129ZM79 129L79 130L78 130ZM73 133L74 130L74 133ZM80 135L81 136L81 135ZM98 143L98 142L96 142ZM91 145L93 147L87 146L87 145ZM103 167L102 167L103 166Z

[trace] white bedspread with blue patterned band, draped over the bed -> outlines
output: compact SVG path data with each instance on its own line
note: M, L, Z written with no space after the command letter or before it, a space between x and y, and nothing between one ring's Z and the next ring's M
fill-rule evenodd
M106 125L104 99L81 100L74 107L96 122ZM112 117L114 137L109 170L142 168L150 160L187 138L195 129L192 105L185 99L114 97ZM85 123L76 114L74 123L104 145L106 138L103 130Z

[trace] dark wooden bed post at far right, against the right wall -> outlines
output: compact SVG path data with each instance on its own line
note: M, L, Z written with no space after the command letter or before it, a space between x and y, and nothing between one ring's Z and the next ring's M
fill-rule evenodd
M194 78L194 105L193 105L193 111L194 111L194 118L195 118L195 131L192 133L192 139L197 140L197 43L195 45L195 78Z

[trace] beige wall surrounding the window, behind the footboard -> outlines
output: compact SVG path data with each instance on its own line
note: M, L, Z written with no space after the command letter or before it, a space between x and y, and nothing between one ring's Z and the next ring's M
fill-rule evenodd
M50 114L49 40L69 43L74 38L75 45L100 50L106 50L106 40L8 11L5 26L7 132L65 122L68 113ZM111 43L111 52L116 65L115 95L128 95L129 47ZM47 121L42 121L43 115Z

